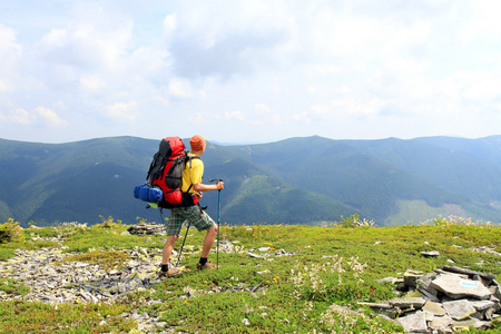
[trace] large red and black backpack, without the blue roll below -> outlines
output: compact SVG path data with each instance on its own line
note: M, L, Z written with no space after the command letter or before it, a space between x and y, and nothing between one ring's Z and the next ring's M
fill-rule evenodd
M179 137L166 137L160 141L146 176L151 186L159 187L164 194L159 207L187 207L198 203L198 197L189 193L193 185L187 193L180 189L183 169L188 161L191 164L193 158L199 159L196 156L188 157L185 144Z

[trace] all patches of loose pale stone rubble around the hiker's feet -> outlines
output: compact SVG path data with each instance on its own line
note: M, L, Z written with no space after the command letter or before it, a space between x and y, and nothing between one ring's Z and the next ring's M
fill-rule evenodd
M138 235L161 234L164 228L155 225L136 225L129 228L129 233ZM147 249L135 247L134 249L100 249L102 252L122 252L128 258L119 269L106 271L99 265L87 262L65 262L65 258L76 255L76 253L65 252L63 238L40 238L35 233L33 238L51 240L58 243L57 248L41 248L39 250L16 250L16 255L7 262L0 262L0 274L3 278L11 278L22 282L29 287L29 293L24 296L10 295L0 291L0 301L23 299L27 302L43 302L50 304L78 304L78 303L108 303L111 304L121 298L127 298L127 294L137 291L155 292L156 283L159 283L158 271L161 263L161 248ZM193 250L193 246L185 246L185 255ZM220 253L246 252L253 257L273 257L294 255L285 250L269 252L269 247L244 250L238 243L228 240L219 244ZM177 259L177 252L173 252L173 258ZM180 267L181 269L184 267ZM237 291L248 291L255 293L262 289L261 285L244 287L239 284L232 288L223 289L213 287L207 292L196 292L190 288L185 289L186 296L207 293L232 293ZM145 301L148 304L163 303L161 301ZM148 314L138 314L137 311L122 314L126 318L132 318L138 324L138 330L144 332L157 332L157 328L165 328L166 323ZM174 328L171 328L174 330ZM168 333L169 330L165 331ZM161 332L160 332L161 333Z

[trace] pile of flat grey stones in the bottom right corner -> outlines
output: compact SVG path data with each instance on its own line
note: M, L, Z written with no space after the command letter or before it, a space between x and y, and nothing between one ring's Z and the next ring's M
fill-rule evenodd
M382 303L361 303L396 320L406 333L453 333L489 328L500 315L501 286L495 275L456 266L433 273L407 269L401 279L386 277L403 294Z

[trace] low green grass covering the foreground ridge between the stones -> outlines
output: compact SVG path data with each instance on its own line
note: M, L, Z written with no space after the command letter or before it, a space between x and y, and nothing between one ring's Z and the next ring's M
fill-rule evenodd
M120 249L163 246L165 236L124 235L127 227L52 227L35 233L63 236L61 244L69 247L65 252L79 253L67 261L107 268L127 261ZM47 247L47 242L30 238L33 229L24 233L26 242L2 245L9 252L1 248L1 261L12 256L16 248L40 248L43 243ZM424 226L382 228L222 226L220 239L238 242L235 245L242 250L219 253L222 267L217 271L196 272L203 237L190 232L183 262L187 271L155 284L154 291L131 293L127 301L114 305L0 302L0 332L128 333L136 325L120 314L134 310L159 317L167 328L184 333L343 333L347 328L353 333L399 333L402 328L357 305L394 297L394 286L376 279L402 276L407 268L431 272L448 259L458 266L494 273L498 278L501 274L499 256L469 249L487 246L500 252L499 227L445 224L443 219ZM181 239L177 249L180 244ZM271 249L258 252L259 247ZM279 249L295 254L275 256ZM269 256L255 258L247 254L249 250ZM420 254L423 250L439 250L441 256L424 258ZM216 254L210 261L216 262ZM20 282L8 283L11 294L26 293ZM245 291L257 285L261 288L255 293Z

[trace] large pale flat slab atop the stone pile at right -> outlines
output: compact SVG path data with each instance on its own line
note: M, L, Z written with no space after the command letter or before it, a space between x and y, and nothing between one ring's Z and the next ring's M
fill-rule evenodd
M430 284L431 287L443 292L453 299L473 297L489 299L491 292L480 281L462 278L458 275L440 275Z

